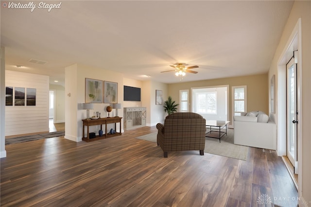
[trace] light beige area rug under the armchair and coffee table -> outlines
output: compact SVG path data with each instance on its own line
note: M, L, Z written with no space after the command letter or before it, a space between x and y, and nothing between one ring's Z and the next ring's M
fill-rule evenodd
M153 132L137 138L156 143L156 134L157 132ZM205 138L204 152L235 159L247 160L248 147L234 144L233 129L227 129L227 135L224 135L224 137L221 138L221 142L219 142L218 138Z

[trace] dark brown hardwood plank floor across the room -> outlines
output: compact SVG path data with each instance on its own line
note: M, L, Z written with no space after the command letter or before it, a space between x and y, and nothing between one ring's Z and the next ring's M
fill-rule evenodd
M56 127L57 128L57 127ZM296 207L297 190L275 151L247 161L198 151L163 157L142 127L94 142L63 137L6 146L0 205L51 207Z

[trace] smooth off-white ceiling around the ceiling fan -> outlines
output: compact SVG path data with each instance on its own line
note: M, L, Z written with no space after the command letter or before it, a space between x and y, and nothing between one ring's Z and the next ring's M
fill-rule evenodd
M174 72L161 73L176 62L199 66L185 82L266 73L293 6L287 0L62 0L48 12L33 2L33 12L1 5L6 69L49 75L62 85L65 67L74 63L163 83L180 81Z

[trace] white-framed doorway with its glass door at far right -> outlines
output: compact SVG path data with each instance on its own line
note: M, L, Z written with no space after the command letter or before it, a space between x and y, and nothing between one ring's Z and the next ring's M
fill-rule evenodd
M301 19L299 18L292 34L290 35L287 44L284 47L284 51L281 53L278 64L277 70L277 114L272 114L273 117L276 118L277 121L277 154L282 156L284 163L287 166L287 169L290 172L291 177L294 180L294 184L298 190L298 193L301 194L301 186L302 186L302 166L301 166L301 157L302 157L302 142L301 142L301 135L302 135L302 125L303 122L301 121L302 117L302 102L301 96L302 93L302 43L301 43ZM293 57L292 61L294 63L290 63L290 60ZM294 65L294 66L293 66ZM292 76L294 73L295 80L294 86L296 89L287 90L290 87L288 84L289 77L287 74L287 70L291 69ZM294 68L294 69L293 69ZM291 77L292 78L292 77ZM291 95L287 94L288 92L293 91ZM294 101L295 106L290 106L288 103L288 96L295 97ZM294 100L293 99L293 100ZM292 107L292 108L291 108ZM298 114L297 114L298 111ZM292 117L291 117L292 116ZM290 122L292 121L292 122ZM294 123L293 123L294 121ZM298 124L296 121L299 121ZM291 124L290 124L291 123ZM293 128L294 127L294 128ZM290 129L291 128L291 129ZM288 140L289 134L292 134L292 140ZM296 136L296 138L295 138ZM291 142L291 143L289 143ZM293 152L288 152L294 149ZM294 156L290 155L293 154ZM292 156L292 161L289 160L288 156ZM296 160L295 160L296 159ZM300 161L299 161L300 160ZM292 164L293 162L293 164Z

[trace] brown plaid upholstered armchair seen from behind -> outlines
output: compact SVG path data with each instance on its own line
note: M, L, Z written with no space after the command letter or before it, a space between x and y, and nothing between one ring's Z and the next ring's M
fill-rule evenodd
M196 113L178 112L165 118L164 125L156 124L156 142L164 157L170 151L200 150L204 155L206 121Z

